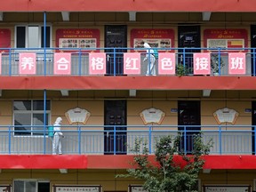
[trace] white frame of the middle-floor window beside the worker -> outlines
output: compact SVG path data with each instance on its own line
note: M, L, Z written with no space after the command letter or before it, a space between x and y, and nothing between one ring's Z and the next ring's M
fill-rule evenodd
M30 101L30 110L27 110L27 109L24 109L24 110L15 110L14 109L14 102L15 101ZM33 105L34 105L34 101L43 101L44 100L12 100L12 135L14 137L44 137L44 130L42 130L42 133L38 132L38 133L34 133L33 131L35 131L34 128L34 125L36 126L44 126L44 124L34 124L34 119L33 119L33 116L36 115L36 114L42 114L44 115L44 109L42 110L35 110L33 108ZM51 122L51 114L52 114L52 102L51 100L46 100L46 102L49 102L49 109L46 109L45 110L45 113L46 115L48 116L48 119L46 120L48 122L48 124L45 124L46 126L50 125L50 122ZM19 130L16 130L15 129L15 115L16 114L27 114L27 115L30 115L30 124L22 124L22 126L30 126L30 130L28 130L28 132L30 132L30 134L26 134L26 132L24 134L17 134L19 133ZM16 133L17 132L17 133Z

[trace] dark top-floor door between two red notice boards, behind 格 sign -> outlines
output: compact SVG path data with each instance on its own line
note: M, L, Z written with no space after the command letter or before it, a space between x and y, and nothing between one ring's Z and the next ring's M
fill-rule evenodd
M105 52L107 54L107 76L124 75L124 52L127 52L126 48L127 27L124 25L105 26Z

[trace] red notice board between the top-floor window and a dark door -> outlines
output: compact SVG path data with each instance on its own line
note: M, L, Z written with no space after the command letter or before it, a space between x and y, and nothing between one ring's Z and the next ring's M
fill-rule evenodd
M61 28L56 30L56 47L61 51L100 52L94 48L100 47L100 30L97 28ZM87 50L86 50L87 49Z

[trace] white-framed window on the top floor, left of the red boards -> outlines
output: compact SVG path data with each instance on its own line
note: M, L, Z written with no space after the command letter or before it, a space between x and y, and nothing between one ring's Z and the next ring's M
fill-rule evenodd
M45 47L51 45L51 27L45 28ZM44 48L44 26L16 26L17 48Z

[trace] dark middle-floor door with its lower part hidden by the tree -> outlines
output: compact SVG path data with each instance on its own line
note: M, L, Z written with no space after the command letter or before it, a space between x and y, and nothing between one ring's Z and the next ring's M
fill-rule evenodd
M193 149L193 135L201 130L200 101L180 100L178 101L178 130L182 132L180 149L188 154ZM188 132L183 132L183 131Z

